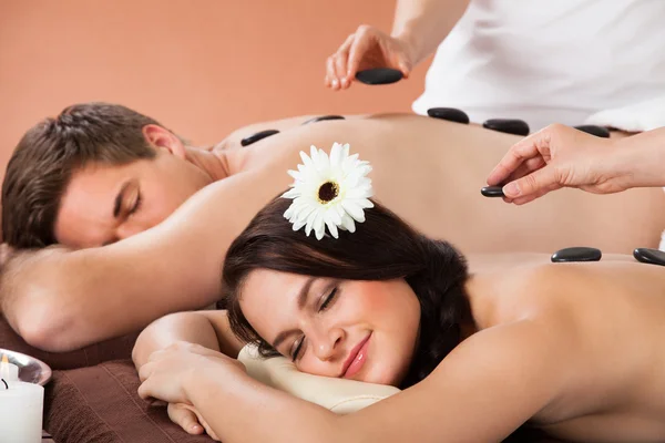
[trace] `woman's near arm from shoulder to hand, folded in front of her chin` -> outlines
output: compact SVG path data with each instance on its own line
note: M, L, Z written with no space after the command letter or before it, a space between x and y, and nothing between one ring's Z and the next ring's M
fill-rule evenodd
M483 330L421 383L350 415L265 387L207 350L182 347L144 365L139 392L191 402L228 443L501 441L565 390L574 370L569 336L536 320Z

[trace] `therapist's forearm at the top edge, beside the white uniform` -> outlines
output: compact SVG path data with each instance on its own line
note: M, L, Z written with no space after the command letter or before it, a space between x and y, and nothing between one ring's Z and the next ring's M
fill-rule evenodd
M391 34L411 47L418 64L437 49L468 6L469 0L398 0Z

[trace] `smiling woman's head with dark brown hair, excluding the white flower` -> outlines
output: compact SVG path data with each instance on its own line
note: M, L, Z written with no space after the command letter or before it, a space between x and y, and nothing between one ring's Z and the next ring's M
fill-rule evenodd
M470 320L463 257L380 205L321 240L291 229L288 206L272 202L228 251L234 332L311 374L396 387L426 377Z

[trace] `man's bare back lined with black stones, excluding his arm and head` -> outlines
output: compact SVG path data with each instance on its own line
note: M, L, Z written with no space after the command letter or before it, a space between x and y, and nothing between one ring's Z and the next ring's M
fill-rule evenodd
M223 146L247 150L244 169L263 169L262 182L286 186L299 151L349 143L372 164L376 197L431 237L464 253L542 251L589 245L607 253L657 247L665 228L665 194L634 189L612 196L576 190L514 207L481 196L488 172L520 140L479 126L416 115L375 115L295 125L305 119L252 125ZM247 147L239 141L278 127L279 134ZM278 192L279 186L275 189Z

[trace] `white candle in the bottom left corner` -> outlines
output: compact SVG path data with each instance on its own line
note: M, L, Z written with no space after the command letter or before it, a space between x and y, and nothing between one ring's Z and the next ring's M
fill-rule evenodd
M40 443L44 388L23 381L0 382L0 441Z

